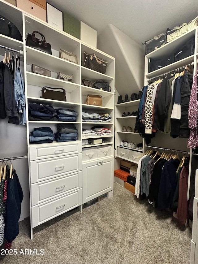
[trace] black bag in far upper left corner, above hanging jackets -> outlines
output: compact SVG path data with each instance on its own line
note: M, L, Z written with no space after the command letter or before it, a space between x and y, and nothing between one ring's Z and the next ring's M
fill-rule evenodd
M15 24L2 15L0 15L0 34L23 41L21 33Z

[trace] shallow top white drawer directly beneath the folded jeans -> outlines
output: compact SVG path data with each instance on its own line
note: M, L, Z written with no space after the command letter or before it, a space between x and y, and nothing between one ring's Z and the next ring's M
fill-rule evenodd
M45 146L44 146L45 145ZM52 158L64 155L70 155L80 153L82 149L81 142L72 142L65 144L42 144L42 146L30 146L29 154L30 160L36 160L41 158Z

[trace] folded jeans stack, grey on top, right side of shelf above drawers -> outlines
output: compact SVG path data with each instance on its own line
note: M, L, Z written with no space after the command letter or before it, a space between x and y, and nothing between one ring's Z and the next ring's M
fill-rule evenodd
M55 139L57 142L76 141L78 130L74 124L57 124Z

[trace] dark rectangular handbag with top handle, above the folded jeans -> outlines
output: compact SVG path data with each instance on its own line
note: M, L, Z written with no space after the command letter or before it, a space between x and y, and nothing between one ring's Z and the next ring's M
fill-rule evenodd
M62 91L54 91L50 89L61 89ZM58 101L67 101L65 89L63 88L52 88L48 86L41 87L41 96L40 98L50 99L50 100L58 100Z

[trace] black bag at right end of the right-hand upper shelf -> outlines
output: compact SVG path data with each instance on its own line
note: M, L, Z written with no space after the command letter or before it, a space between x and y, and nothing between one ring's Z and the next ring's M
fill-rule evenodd
M195 53L195 37L185 41L174 53L174 62L187 58Z

